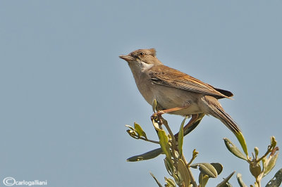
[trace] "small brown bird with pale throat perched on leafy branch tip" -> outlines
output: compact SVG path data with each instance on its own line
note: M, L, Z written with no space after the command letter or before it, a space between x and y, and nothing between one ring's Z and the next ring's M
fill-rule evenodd
M219 98L231 98L233 93L201 82L190 75L163 65L155 49L138 49L119 56L128 62L137 88L152 105L156 100L163 113L197 115L204 113L221 120L236 136L241 134L238 124L228 115Z

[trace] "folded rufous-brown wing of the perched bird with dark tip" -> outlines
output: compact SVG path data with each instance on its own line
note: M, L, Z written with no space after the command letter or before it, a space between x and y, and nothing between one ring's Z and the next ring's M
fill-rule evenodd
M194 91L197 93L204 93L209 96L215 96L216 98L229 98L230 96L233 96L230 91L216 89L209 84L191 77L190 75L174 70L173 68L165 65L154 65L148 71L154 84L171 86L173 88Z

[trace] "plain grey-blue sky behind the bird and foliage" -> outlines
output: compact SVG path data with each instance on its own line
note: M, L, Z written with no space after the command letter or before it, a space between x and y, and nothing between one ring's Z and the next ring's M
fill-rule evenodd
M48 186L157 186L168 177L164 155L126 158L157 148L130 138L141 124L157 139L127 63L135 49L157 49L165 65L234 93L221 104L240 124L249 152L282 147L282 1L0 1L0 181ZM164 115L173 131L183 117ZM185 137L187 159L221 162L215 186L248 165L222 138L235 137L204 117ZM278 169L263 179L265 185ZM198 170L193 169L197 178ZM235 176L233 186L238 186ZM1 182L0 186L3 186Z

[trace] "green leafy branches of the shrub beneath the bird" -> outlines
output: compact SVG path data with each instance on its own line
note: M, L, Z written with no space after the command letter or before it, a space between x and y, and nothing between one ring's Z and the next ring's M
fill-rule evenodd
M157 111L157 101L153 103L153 110ZM154 113L152 115L151 120L154 129L156 129L159 141L150 140L147 138L145 131L142 129L140 124L134 123L134 128L126 125L128 127L128 134L135 138L141 139L143 141L149 141L152 143L159 144L159 148L154 150L150 150L141 155L135 155L133 157L128 158L128 162L136 162L141 160L149 160L157 157L158 155L164 154L166 155L164 159L164 165L168 174L172 178L166 178L164 186L200 186L204 187L207 185L209 179L216 178L219 174L221 174L223 166L220 163L208 163L208 162L200 162L200 163L192 163L195 158L199 154L196 150L192 151L192 157L188 162L183 155L183 137L190 133L197 125L201 122L204 114L199 114L185 124L185 119L180 125L179 132L177 134L173 134L170 127L168 126L168 122L164 120L164 118L160 115L159 112ZM166 131L163 129L163 126L166 128ZM276 147L276 140L274 136L271 137L270 146L268 146L266 153L259 157L259 148L254 148L254 153L252 153L252 157L249 157L247 151L247 144L245 142L245 138L242 133L238 133L235 135L238 138L241 148L243 149L243 153L240 149L235 146L228 138L223 138L223 141L226 145L226 148L236 157L243 159L249 165L250 173L255 177L255 186L261 186L261 181L264 176L269 174L271 169L274 168L276 164L276 160L278 157L278 147ZM192 172L190 169L199 169L200 174L198 176L198 180L195 180L195 177L192 176ZM231 179L235 172L231 173L227 176L223 181L221 181L217 186L231 186L231 183L228 182ZM154 180L157 182L158 186L161 186L161 183L157 180L157 178L151 173ZM245 187L245 183L243 182L243 177L241 174L237 174L237 180L241 187ZM280 169L269 183L266 184L267 187L280 186L282 181L282 169ZM252 186L252 185L251 185Z

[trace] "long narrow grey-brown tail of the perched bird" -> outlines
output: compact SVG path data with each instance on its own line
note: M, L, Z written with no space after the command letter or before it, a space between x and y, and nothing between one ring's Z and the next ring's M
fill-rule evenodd
M216 98L212 96L204 96L202 97L202 101L204 101L204 103L206 103L206 105L209 107L210 110L207 112L209 115L221 120L221 122L223 122L223 124L225 124L226 127L228 127L228 129L235 134L235 136L242 134L238 124L223 110L221 104Z

